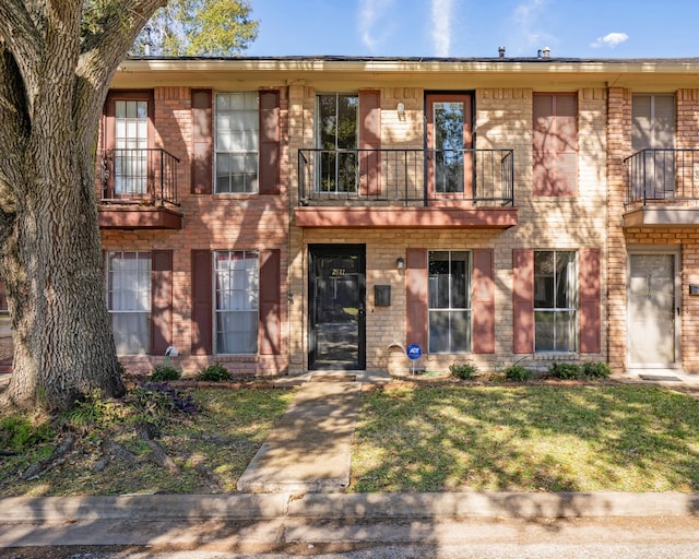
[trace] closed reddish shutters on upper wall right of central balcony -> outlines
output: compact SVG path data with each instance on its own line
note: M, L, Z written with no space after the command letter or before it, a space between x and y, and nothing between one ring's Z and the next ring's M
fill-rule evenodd
M578 95L535 93L533 110L533 193L574 195L578 191Z

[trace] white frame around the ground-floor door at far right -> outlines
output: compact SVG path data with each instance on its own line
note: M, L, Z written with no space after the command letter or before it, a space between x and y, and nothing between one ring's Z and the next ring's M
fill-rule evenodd
M631 257L639 254L672 254L675 257L674 289L675 289L675 312L674 312L674 362L668 364L638 364L631 361L629 336L630 329L630 305L629 286L631 281ZM678 245L633 245L627 247L626 259L626 362L631 369L682 369L682 248ZM677 309L680 312L677 312Z

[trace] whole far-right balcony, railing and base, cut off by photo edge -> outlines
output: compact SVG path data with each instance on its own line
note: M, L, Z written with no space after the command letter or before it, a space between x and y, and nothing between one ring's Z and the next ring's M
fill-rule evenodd
M699 150L641 150L624 164L624 227L699 227Z

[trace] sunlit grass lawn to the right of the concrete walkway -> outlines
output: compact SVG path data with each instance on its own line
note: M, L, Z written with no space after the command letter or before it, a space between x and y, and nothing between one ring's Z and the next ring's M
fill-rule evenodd
M699 402L655 386L376 390L352 491L697 491Z

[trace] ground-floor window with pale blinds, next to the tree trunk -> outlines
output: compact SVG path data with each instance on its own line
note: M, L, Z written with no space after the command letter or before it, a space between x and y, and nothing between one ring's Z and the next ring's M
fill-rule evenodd
M107 308L119 355L147 354L151 341L151 253L107 253Z

